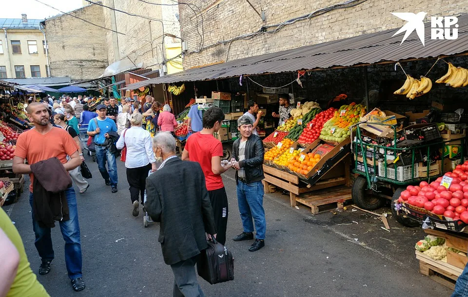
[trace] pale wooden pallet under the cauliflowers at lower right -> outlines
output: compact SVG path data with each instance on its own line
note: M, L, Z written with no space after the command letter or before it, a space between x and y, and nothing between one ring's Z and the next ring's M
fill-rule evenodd
M455 282L462 274L463 269L446 262L434 260L418 251L416 251L416 259L419 260L419 272L421 274L428 276L451 290L455 289ZM439 275L442 275L445 278L442 278Z

